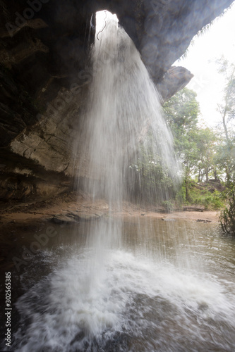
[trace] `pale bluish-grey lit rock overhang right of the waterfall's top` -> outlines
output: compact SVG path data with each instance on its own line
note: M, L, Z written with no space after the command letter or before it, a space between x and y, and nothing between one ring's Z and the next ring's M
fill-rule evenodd
M232 1L144 1L140 52L155 82L188 48L191 39Z

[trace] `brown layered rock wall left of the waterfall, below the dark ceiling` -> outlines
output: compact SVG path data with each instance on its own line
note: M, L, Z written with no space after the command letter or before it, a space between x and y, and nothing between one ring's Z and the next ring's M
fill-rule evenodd
M78 167L80 177L88 177L80 129L86 92L87 85L61 88L47 110L35 115L36 122L0 149L1 200L45 199L70 191Z

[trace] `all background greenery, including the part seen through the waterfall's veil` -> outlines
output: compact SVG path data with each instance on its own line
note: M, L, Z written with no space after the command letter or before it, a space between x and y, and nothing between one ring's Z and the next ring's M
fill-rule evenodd
M231 120L231 101L229 104ZM200 205L207 210L223 208L221 191L212 187L210 179L225 181L227 187L231 187L231 180L235 177L235 136L229 132L227 139L221 130L198 125L200 107L196 93L190 89L184 88L171 97L164 103L163 111L174 137L176 155L183 166L182 184L179 189L174 187L169 170L152 148L153 139L149 133L145 146L140 146L138 157L129 170L133 175L135 201L158 203L167 211L182 204ZM219 188L222 189L222 184Z

